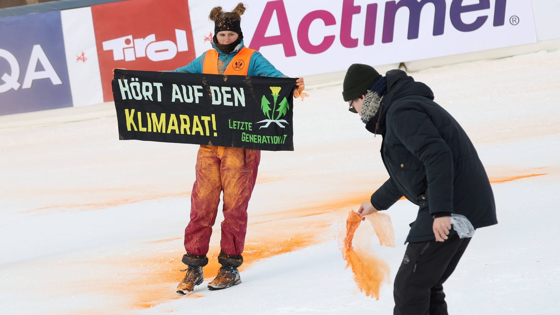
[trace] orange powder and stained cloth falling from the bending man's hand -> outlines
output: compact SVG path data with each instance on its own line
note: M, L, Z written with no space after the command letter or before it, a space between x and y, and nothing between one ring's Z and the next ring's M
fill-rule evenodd
M381 214L372 214L370 216L378 215L380 216ZM368 219L370 216L368 216ZM389 217L388 215L384 216ZM375 257L372 253L361 251L360 249L354 251L352 239L354 238L354 232L356 232L356 229L358 228L358 225L360 225L361 221L361 217L356 212L349 212L348 219L346 220L346 238L344 238L342 256L344 257L344 260L348 262L346 267L352 267L354 281L356 281L358 288L360 288L367 297L379 300L379 290L381 289L381 284L383 282L390 282L389 265L380 258ZM378 223L384 222L386 224L386 219L383 217L375 218L373 221L375 222L374 229ZM374 223L372 222L372 224ZM391 224L390 218L389 224ZM393 226L391 225L390 231L392 230ZM377 235L381 235L381 237L379 237L380 242L394 247L394 234L389 235L388 231L389 229L376 229Z

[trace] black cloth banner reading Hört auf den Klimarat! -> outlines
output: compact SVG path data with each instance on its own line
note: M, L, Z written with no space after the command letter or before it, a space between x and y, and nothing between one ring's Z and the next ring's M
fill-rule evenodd
M115 70L119 138L293 151L296 80Z

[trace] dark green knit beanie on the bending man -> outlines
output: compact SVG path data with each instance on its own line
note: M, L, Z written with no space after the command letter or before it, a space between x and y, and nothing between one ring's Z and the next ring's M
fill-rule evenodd
M342 84L344 101L351 101L366 94L381 75L367 64L354 63L346 71Z

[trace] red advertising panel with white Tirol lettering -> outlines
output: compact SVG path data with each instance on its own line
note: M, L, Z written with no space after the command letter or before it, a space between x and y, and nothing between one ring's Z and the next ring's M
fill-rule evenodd
M97 4L91 15L104 101L113 100L113 68L174 70L196 57L187 0Z

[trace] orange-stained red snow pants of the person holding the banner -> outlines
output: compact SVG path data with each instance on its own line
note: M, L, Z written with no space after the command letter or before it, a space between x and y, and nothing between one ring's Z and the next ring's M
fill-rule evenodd
M221 250L241 255L247 232L247 207L255 187L260 151L202 145L198 150L190 222L185 229L185 249L206 256L223 191Z

